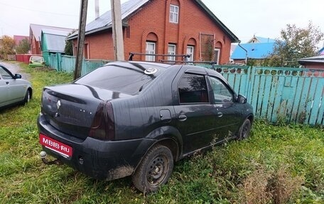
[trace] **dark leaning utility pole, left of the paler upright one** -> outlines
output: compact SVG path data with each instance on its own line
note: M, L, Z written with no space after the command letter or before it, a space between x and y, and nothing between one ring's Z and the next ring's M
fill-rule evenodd
M77 57L75 58L74 80L81 77L83 48L85 46L85 23L87 23L87 1L80 0L80 21L79 31L77 32Z

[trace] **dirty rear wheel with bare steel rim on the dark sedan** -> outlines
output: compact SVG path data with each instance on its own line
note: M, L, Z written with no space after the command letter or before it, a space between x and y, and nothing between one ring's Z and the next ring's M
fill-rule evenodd
M168 181L172 169L171 150L162 145L153 146L132 176L134 186L143 193L154 192Z

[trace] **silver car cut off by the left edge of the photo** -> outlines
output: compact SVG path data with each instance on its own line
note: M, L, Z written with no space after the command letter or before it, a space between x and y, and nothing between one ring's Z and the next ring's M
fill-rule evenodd
M19 74L13 75L0 64L0 108L11 104L26 104L32 95L31 82L21 79Z

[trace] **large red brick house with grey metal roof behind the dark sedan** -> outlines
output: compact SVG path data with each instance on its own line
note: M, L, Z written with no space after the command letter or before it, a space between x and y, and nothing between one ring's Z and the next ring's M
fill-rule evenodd
M129 53L190 54L190 61L229 62L229 29L200 0L131 0L121 4L124 56ZM76 53L77 33L73 40ZM111 11L87 24L84 56L114 60ZM133 60L183 60L166 56L135 55Z

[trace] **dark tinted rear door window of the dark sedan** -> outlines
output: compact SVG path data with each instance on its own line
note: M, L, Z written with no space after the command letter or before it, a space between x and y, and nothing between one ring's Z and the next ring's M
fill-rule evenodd
M185 73L178 83L180 103L208 102L207 83L204 75Z

